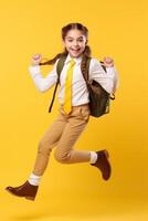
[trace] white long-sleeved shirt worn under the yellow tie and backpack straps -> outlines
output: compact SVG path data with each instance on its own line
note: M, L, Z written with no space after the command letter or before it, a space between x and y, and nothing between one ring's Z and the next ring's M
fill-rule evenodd
M65 63L60 76L61 85L60 85L57 97L61 104L64 103L64 85L65 85L66 71L68 69L70 61L71 61L71 56L68 54L65 60ZM75 61L75 65L74 65L73 78L72 78L72 105L78 106L78 105L88 103L89 98L88 98L88 90L86 86L86 82L81 71L82 56L74 59L74 61ZM45 77L41 75L40 65L34 65L34 66L29 67L29 72L33 78L33 82L41 92L45 92L50 90L54 84L56 84L57 62L59 60L55 62L53 70ZM117 71L114 66L106 67L106 71L107 73L103 70L97 59L91 59L89 80L97 81L108 93L114 94L118 84Z

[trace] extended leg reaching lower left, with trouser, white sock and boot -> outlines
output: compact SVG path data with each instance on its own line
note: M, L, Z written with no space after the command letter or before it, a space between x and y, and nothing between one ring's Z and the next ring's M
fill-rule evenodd
M66 120L64 116L60 114L59 118L52 124L50 129L47 129L47 131L40 141L34 170L29 181L27 180L23 185L19 187L7 187L6 188L7 191L9 191L11 194L14 194L17 197L24 197L29 200L35 199L39 188L36 179L40 178L39 176L43 175L47 166L49 154L53 148L53 146L59 141L65 125ZM34 177L35 177L35 183L34 183Z

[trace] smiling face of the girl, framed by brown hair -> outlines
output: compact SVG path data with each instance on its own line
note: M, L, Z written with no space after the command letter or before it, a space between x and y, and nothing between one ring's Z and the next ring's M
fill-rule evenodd
M78 57L85 50L86 42L86 36L82 31L72 29L64 39L64 46L72 57Z

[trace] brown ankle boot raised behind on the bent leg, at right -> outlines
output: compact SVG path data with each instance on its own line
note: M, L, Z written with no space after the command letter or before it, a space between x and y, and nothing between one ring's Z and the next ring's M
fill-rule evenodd
M97 167L102 171L102 176L104 180L108 180L110 177L110 164L108 161L109 155L106 149L96 151L97 160L95 164L91 164L92 166Z

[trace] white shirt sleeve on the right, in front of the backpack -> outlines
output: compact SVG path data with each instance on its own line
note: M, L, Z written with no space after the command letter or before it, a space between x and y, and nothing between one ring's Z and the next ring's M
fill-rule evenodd
M115 66L102 67L97 59L91 60L89 78L98 82L109 94L115 94L118 87L118 73Z

